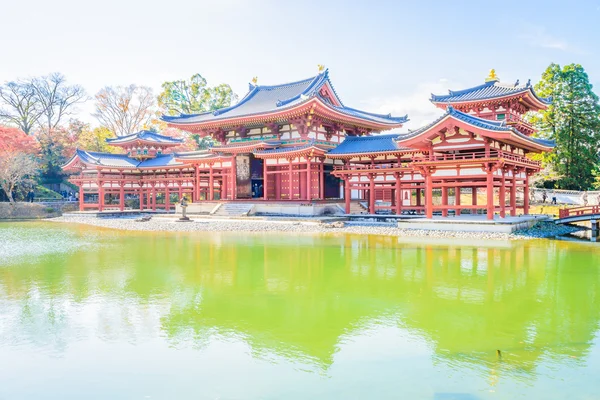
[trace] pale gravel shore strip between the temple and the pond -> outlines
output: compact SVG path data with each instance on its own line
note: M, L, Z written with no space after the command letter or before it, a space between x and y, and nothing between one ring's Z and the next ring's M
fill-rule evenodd
M301 220L217 220L193 218L191 222L178 222L176 218L152 218L138 222L134 218L94 218L62 216L50 219L62 223L77 223L128 231L172 232L285 232L285 233L348 233L360 235L386 235L402 237L460 238L491 240L523 240L547 238L568 234L578 229L557 226L553 222L538 222L534 227L512 234L490 232L452 232L418 229L399 229L395 225L353 225L334 227L333 224Z

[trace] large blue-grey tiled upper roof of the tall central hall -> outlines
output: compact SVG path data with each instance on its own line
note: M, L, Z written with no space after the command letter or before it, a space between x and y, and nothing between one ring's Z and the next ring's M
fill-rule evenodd
M244 98L237 104L231 107L201 114L182 114L179 116L163 115L161 118L166 122L195 124L213 120L281 111L286 108L302 104L311 98L319 97L325 104L328 104L333 109L353 117L387 124L404 123L407 120L406 116L394 118L391 115L373 114L345 107L334 90L333 96L335 96L336 100L339 102L339 104L341 104L341 106L335 106L328 100L323 99L319 94L319 89L321 89L321 87L323 87L323 85L326 83L328 83L333 89L333 85L329 80L328 70L325 70L324 72L312 78L292 83L285 83L282 85L250 85L250 91L248 94L246 94L246 96L244 96Z

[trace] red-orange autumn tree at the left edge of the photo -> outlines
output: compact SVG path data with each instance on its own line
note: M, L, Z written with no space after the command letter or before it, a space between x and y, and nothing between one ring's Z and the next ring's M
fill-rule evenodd
M18 185L31 184L38 164L35 160L37 143L25 132L0 126L0 187L14 203L13 192Z

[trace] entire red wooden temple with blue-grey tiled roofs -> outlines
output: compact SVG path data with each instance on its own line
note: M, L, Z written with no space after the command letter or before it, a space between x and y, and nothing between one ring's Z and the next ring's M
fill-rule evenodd
M540 169L529 155L553 143L534 138L524 115L548 100L529 82L500 83L492 70L484 84L431 101L445 110L436 121L382 134L407 116L344 105L327 70L281 85L254 80L231 107L162 117L210 136L209 150L173 152L181 140L142 131L108 140L123 154L77 150L64 168L78 172L71 181L85 199L81 210L124 210L127 197L139 199L142 210L171 210L188 195L195 203L339 203L347 214L528 213L529 177Z

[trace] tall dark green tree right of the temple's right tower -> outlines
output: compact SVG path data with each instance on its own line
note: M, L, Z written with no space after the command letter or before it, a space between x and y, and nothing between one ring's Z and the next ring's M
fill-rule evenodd
M552 104L534 122L541 134L556 141L547 161L562 189L587 190L594 183L600 139L600 105L588 75L579 64L551 64L536 85Z

